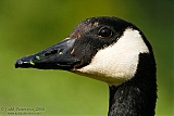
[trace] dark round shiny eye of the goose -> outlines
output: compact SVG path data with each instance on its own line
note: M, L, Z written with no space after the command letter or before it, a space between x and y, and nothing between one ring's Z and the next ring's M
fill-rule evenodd
M112 34L113 34L113 31L112 31L110 28L108 28L108 27L101 28L101 29L99 30L99 33L98 33L98 35L99 35L100 37L111 37Z

